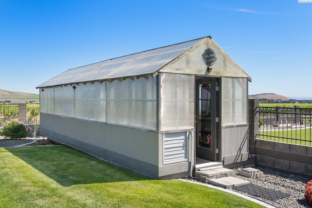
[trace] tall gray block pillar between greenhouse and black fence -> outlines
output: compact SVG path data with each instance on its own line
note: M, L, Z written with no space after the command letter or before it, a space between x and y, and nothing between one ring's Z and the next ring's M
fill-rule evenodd
M249 99L248 100L248 125L249 125L249 152L254 154L255 139L258 138L259 134L259 100Z

